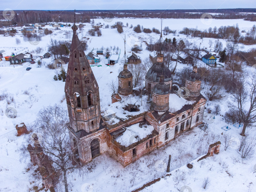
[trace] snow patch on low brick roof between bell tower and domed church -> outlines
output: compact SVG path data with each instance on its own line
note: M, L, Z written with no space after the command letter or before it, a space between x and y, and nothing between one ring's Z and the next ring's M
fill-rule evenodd
M116 138L116 141L120 145L128 147L133 143L136 143L152 133L154 127L152 125L143 125L139 127L139 123L133 124L130 127L126 127L125 132Z

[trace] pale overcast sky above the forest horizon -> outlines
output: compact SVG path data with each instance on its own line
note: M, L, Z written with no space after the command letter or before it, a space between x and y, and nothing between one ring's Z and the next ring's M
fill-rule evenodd
M122 10L256 8L256 0L1 0L12 10Z

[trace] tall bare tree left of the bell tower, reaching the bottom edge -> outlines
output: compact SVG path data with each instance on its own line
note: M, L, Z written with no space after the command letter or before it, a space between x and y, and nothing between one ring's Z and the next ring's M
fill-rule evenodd
M40 145L52 161L55 171L62 171L65 192L68 192L67 171L76 168L71 158L77 146L71 148L66 123L68 117L65 109L59 105L48 106L39 111L34 130L42 135L39 137Z

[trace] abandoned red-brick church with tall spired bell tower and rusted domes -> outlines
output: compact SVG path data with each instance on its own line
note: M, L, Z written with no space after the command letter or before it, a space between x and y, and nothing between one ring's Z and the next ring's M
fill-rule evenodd
M178 85L172 83L170 70L163 63L164 54L161 50L145 77L144 93L151 100L150 109L138 111L136 115L127 118L114 116L117 122L110 123L110 118L101 116L99 87L76 34L77 26L74 24L72 29L65 95L70 119L70 140L72 147L77 146L76 157L82 164L107 152L126 166L202 123L206 99L200 94L201 79L197 67L193 67L191 75L186 79L185 88L189 94L182 97L180 89L177 90ZM124 70L118 75L118 93L112 95L112 103L122 102L122 97L135 92L132 74L127 69L126 54L124 60ZM188 103L173 111L169 104L174 97ZM120 138L123 136L125 139L125 133L130 129L141 129L147 136L142 138L133 135L128 138L128 144L122 144Z

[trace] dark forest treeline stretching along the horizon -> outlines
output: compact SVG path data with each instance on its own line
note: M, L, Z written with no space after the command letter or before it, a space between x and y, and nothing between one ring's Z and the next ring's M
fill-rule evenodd
M198 12L199 11L199 12ZM26 23L72 23L74 11L72 10L15 10L15 17L3 26L23 26ZM174 19L200 19L202 13L216 13L214 19L244 19L256 21L256 9L183 9L183 10L76 10L76 22L90 22L96 18L174 18ZM239 14L250 13L250 14ZM1 12L0 19L4 20Z

